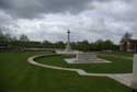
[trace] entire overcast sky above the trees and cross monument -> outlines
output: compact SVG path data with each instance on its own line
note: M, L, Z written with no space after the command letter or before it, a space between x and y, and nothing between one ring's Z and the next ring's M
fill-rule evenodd
M0 26L33 41L137 38L137 0L0 0Z

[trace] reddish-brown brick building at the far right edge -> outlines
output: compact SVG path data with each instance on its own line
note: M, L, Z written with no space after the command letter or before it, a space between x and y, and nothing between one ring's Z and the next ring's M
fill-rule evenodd
M123 39L119 46L121 51L137 53L137 39Z

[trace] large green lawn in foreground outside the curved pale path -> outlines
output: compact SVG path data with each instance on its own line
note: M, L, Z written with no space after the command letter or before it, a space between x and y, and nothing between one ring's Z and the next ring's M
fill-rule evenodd
M0 53L0 92L130 92L129 88L109 78L80 77L26 61L38 54L42 53Z

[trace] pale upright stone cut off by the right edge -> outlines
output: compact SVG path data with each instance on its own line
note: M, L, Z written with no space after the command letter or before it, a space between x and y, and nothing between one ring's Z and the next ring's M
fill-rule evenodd
M134 56L132 88L137 89L137 55Z

